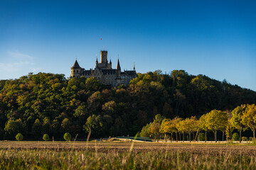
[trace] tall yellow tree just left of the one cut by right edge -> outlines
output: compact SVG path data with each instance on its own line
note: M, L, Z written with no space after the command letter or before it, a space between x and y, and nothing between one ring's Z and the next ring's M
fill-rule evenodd
M242 115L245 113L246 108L246 105L241 105L231 112L233 116L230 122L237 130L239 130L240 142L242 141L242 129L245 128L245 125L242 123ZM230 135L230 137L232 137L232 135Z

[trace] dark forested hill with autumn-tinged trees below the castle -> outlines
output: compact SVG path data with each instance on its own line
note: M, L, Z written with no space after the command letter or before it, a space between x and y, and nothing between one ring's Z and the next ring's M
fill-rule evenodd
M166 118L200 117L213 109L232 110L256 103L256 92L209 77L174 70L138 74L128 87L106 88L90 78L38 73L0 81L0 140L43 134L58 139L134 135L161 114Z

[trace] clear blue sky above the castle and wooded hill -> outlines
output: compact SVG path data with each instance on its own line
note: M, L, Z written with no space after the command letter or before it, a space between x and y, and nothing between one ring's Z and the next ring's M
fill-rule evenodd
M102 38L102 40L100 40ZM256 1L0 0L0 79L95 67L184 69L256 91Z

